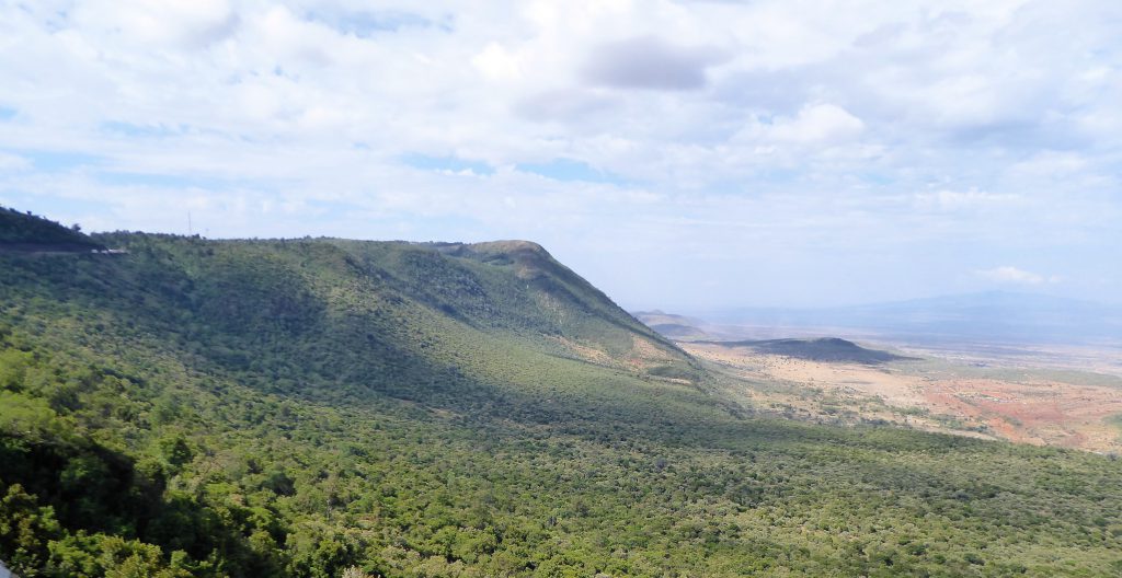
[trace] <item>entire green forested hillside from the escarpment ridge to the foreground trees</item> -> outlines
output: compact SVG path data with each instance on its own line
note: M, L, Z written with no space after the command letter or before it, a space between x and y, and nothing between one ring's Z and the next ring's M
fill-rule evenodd
M756 417L525 242L0 254L21 576L1113 576L1122 465Z

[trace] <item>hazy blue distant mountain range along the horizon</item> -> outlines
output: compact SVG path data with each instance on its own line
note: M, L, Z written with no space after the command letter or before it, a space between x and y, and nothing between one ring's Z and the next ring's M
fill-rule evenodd
M920 343L1122 344L1120 306L1009 291L848 307L719 309L677 316L670 332L669 316L657 314L652 327L679 339L845 334ZM650 313L636 315L650 319Z

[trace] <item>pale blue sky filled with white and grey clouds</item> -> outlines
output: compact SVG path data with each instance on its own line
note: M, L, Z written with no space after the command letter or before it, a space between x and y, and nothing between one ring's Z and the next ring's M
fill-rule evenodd
M1122 300L1122 2L0 0L0 205L632 308Z

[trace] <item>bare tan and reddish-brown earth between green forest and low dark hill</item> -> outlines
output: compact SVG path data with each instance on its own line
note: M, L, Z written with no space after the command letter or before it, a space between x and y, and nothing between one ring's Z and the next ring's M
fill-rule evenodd
M761 354L747 347L680 344L741 379L749 403L811 418L880 419L918 429L1092 451L1122 450L1122 388L1111 379L1010 364L1009 376L945 360L859 365ZM1001 374L1001 360L987 373ZM1086 379L1082 379L1082 377ZM773 384L766 389L760 384ZM775 386L778 385L778 386Z

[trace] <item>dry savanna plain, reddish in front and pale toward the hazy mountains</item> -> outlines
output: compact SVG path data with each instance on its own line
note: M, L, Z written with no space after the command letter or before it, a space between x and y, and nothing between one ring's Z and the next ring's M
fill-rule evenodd
M898 347L899 358L858 363L679 345L729 377L728 393L769 413L1122 453L1118 348Z

